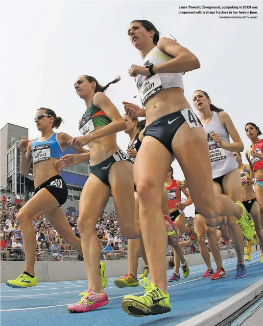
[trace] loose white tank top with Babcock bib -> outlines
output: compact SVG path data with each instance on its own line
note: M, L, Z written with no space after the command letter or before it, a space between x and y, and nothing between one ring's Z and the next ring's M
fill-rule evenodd
M235 160L234 154L220 148L211 138L211 134L214 132L220 135L222 142L230 143L229 133L220 122L216 112L213 113L212 120L208 124L204 124L203 127L207 134L213 179L221 177L238 168L238 163Z

